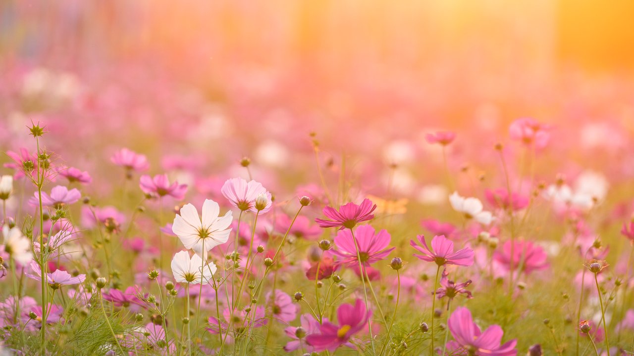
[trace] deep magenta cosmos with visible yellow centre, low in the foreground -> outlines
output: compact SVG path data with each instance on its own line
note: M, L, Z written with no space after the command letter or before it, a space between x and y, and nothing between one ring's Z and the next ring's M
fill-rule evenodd
M341 345L354 348L354 345L348 341L354 334L363 329L368 323L370 315L372 315L372 312L369 310L366 312L365 304L361 299L357 299L354 305L342 304L337 309L339 325L323 321L318 333L306 336L306 342L308 345L313 346L316 352L324 350L333 352Z

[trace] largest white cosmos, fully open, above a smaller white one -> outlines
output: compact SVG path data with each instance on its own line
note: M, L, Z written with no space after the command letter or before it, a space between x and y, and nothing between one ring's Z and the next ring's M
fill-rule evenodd
M172 232L181 239L185 248L193 249L205 257L207 251L226 243L231 232L231 211L219 217L220 207L216 201L205 199L202 205L202 217L198 210L186 204L181 208L181 215L176 215Z

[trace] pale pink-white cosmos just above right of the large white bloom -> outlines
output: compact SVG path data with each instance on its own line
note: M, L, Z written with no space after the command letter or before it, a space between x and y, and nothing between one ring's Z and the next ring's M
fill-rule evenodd
M243 212L266 213L271 210L271 193L259 182L231 178L224 182L220 191L231 205Z

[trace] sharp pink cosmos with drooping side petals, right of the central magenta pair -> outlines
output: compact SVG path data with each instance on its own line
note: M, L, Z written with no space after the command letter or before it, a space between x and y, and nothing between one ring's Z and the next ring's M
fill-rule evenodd
M462 250L453 251L453 242L445 238L443 235L434 236L432 239L432 249L430 250L425 243L425 236L418 235L418 241L423 247L417 245L414 240L410 240L410 245L422 255L414 254L415 257L427 262L436 262L437 265L459 265L470 266L474 264L474 250L463 248Z

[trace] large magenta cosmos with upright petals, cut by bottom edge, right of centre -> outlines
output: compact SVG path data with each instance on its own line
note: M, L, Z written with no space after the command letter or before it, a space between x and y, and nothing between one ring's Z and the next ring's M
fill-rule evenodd
M456 308L447 321L454 340L447 343L452 355L514 356L517 340L500 345L504 331L499 325L491 325L482 333L474 323L471 312L465 307Z

